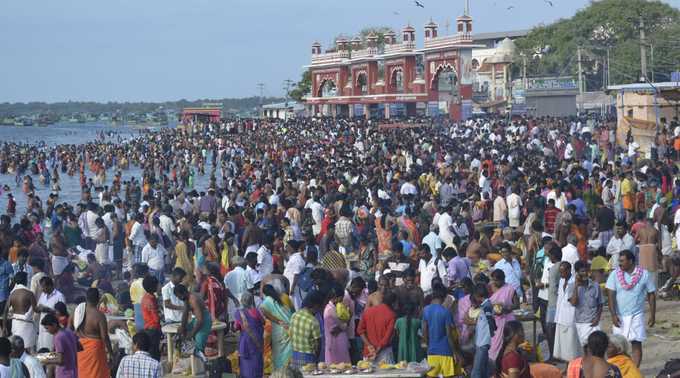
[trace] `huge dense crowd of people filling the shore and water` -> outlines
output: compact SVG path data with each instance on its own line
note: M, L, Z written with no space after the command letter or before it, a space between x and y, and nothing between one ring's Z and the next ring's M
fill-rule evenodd
M641 377L657 293L680 275L677 120L655 160L593 118L404 125L2 144L16 187L0 217L0 377L161 376L162 326L207 361L214 322L238 334L241 377L362 360L425 360L432 377L561 376L558 361L568 377ZM123 179L131 166L140 176ZM80 175L80 202L60 201L60 175Z

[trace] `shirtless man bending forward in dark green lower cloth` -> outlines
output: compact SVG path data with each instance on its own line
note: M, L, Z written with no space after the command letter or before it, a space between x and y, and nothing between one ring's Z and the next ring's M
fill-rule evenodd
M204 350L212 328L212 317L205 306L205 302L196 293L189 293L186 286L179 284L173 289L175 296L184 301L184 313L182 323L177 331L181 339L194 340L194 354L203 362L206 361ZM189 321L189 314L194 318Z

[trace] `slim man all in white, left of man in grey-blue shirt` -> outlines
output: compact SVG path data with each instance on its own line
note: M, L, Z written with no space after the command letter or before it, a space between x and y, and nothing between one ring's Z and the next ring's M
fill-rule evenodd
M576 307L569 302L574 292L574 278L571 275L571 264L560 263L560 285L557 292L557 313L555 323L555 345L553 357L563 361L570 361L582 355L581 343L576 331Z

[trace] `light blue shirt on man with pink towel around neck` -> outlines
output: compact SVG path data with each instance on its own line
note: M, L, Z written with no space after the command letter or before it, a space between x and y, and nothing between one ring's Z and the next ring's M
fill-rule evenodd
M623 277L629 284L633 279L632 275L627 272L623 272ZM607 289L616 291L616 311L619 316L632 316L644 312L647 294L656 291L656 284L654 280L650 279L649 272L643 270L642 277L640 277L637 285L626 290L616 277L615 270L607 278Z

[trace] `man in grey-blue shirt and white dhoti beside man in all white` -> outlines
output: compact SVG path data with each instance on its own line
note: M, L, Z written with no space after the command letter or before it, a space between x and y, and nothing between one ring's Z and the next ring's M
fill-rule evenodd
M576 282L574 292L569 302L576 307L574 320L581 346L586 348L588 336L600 330L600 318L604 298L600 285L590 279L590 266L587 262L577 261L574 264Z

